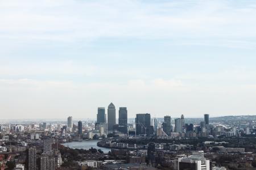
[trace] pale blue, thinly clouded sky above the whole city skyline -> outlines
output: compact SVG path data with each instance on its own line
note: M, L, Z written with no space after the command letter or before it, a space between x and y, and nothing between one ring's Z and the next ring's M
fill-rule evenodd
M256 1L0 0L0 113L256 114Z

